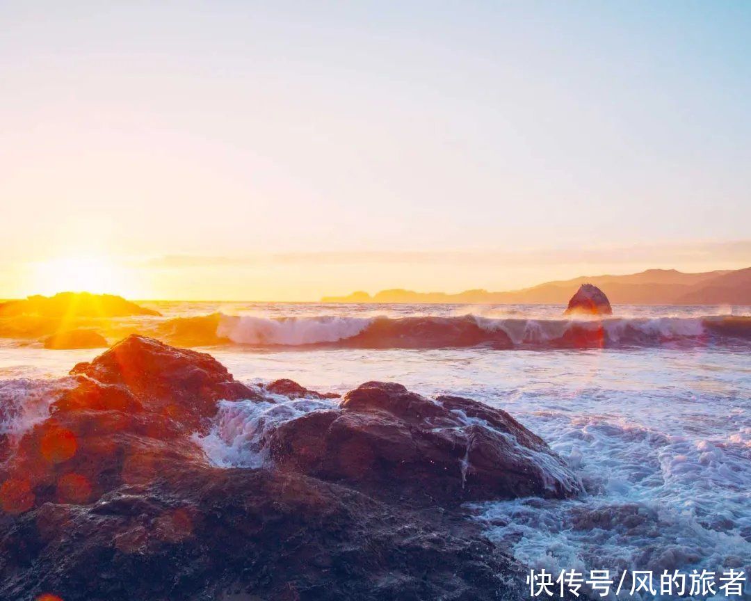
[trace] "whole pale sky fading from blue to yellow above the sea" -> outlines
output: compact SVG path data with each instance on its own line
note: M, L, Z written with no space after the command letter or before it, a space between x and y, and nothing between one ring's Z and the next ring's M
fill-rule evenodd
M0 297L751 265L749 2L0 0L0 28Z

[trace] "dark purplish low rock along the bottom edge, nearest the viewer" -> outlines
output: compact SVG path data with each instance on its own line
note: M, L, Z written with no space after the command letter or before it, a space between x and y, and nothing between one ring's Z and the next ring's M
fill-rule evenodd
M46 503L3 524L0 595L125 599L525 599L525 570L476 524L268 470Z

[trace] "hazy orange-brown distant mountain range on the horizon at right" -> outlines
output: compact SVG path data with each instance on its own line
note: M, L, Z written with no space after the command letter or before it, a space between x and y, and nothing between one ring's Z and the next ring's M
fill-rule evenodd
M323 297L321 302L566 304L584 283L601 288L612 304L751 305L751 267L704 273L650 269L627 276L581 276L508 292L466 290L446 294L397 288L370 295L360 291L343 297Z

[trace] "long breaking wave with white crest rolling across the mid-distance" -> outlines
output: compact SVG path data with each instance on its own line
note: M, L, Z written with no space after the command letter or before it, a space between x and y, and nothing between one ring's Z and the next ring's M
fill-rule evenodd
M577 349L751 343L751 317L493 319L483 316L210 316L173 319L165 338L193 345L340 349Z

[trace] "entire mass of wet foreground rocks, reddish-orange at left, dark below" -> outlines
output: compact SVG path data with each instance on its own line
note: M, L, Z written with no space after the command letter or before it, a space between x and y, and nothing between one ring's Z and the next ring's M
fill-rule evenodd
M524 566L457 502L574 494L541 439L481 403L369 382L271 429L268 467L210 464L195 433L217 400L267 394L143 337L74 367L49 418L0 439L0 598L526 598Z

